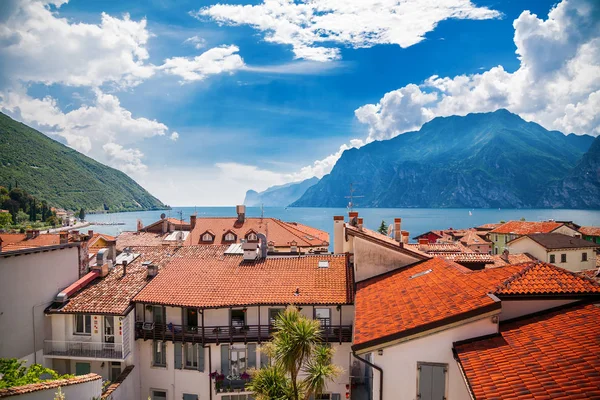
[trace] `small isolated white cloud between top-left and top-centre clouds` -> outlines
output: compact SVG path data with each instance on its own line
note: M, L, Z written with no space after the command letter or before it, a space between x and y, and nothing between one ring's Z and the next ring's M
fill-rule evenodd
M244 66L237 46L213 47L196 57L166 59L159 69L182 78L182 82L204 80L208 75L233 73Z

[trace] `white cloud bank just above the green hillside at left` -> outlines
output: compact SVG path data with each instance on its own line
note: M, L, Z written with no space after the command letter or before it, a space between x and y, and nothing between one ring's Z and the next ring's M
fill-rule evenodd
M96 160L128 173L143 173L146 170L143 153L123 145L164 136L169 128L156 120L134 117L114 95L99 89L94 94L90 105L65 113L54 98L36 99L19 88L0 92L0 110L49 135L63 138L69 146Z

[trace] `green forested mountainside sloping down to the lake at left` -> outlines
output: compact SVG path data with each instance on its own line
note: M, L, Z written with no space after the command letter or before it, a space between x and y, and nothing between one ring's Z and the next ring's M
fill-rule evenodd
M0 186L15 182L50 205L71 210L166 207L123 172L0 113Z

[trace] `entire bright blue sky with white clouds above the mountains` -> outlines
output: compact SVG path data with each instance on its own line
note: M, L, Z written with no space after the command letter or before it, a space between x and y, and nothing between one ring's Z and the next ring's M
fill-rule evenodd
M0 108L173 205L230 205L247 189L321 176L344 148L438 115L506 107L547 128L600 133L597 112L588 110L600 98L593 1L563 1L549 17L551 1L449 0L462 7L456 18L407 0L402 12L414 21L385 26L372 10L348 24L344 2L333 0L328 26L341 28L322 42L286 37L289 24L279 20L280 31L257 27L250 9L234 7L272 16L262 1L223 1L226 9L210 1L44 3L11 0L0 8L0 22L9 21L0 56L12 63L0 77ZM315 16L327 13L315 9ZM50 31L28 43L19 29L36 21ZM423 39L413 43L415 35ZM41 55L31 43L40 40L54 49L45 57L56 72L34 67ZM565 79L566 92L581 93L532 107L527 85L541 90Z

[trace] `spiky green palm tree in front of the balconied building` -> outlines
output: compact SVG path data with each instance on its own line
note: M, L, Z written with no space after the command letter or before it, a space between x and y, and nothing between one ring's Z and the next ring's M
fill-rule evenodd
M273 340L261 347L271 365L253 371L246 388L257 400L308 400L322 393L342 369L331 363L334 351L322 343L319 321L289 306L274 326Z

